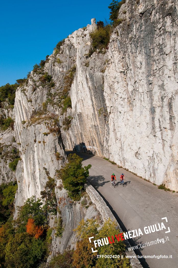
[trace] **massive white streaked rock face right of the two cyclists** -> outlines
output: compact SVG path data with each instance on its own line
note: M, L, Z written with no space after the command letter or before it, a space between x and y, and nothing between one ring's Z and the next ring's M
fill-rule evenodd
M106 156L177 190L177 1L123 8L127 20L111 36L105 72Z

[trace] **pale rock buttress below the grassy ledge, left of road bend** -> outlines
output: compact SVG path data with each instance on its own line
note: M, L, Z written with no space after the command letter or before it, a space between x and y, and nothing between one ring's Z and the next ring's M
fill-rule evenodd
M44 190L47 181L45 171L49 172L48 176L55 177L56 169L61 168L63 159L66 158L58 136L52 133L45 136L45 132L48 129L43 124L26 126L21 132L22 160L18 162L16 169L16 206L22 206L33 195L40 198L40 192ZM61 155L62 159L59 161L56 152Z

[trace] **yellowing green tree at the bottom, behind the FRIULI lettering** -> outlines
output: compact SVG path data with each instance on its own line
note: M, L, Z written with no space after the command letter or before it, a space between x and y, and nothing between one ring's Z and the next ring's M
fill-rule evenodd
M79 226L74 230L80 241L77 242L76 250L73 254L73 265L76 268L131 268L129 260L125 258L125 244L123 241L117 242L115 235L118 235L117 224L108 219L101 229L97 220L87 219L82 220ZM94 247L93 241L90 243L88 237L94 236L94 240L104 237L115 237L115 243L100 246L98 252L92 253L91 247ZM96 258L96 255L124 255L124 258L102 259Z

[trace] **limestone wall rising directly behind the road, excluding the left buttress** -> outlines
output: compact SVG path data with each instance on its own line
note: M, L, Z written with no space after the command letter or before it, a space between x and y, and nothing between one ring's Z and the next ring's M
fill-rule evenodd
M177 190L177 1L128 0L118 18L106 54L87 56L92 20L65 39L62 64L54 52L45 66L59 86L76 65L62 140Z

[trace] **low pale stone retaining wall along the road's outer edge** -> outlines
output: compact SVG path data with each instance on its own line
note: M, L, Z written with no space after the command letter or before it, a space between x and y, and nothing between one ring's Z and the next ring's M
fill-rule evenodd
M101 197L101 195L99 195L99 193L95 190L95 188L89 182L87 182L85 184L85 189L86 189L87 194L90 196L91 201L95 204L95 206L97 207L97 210L101 213L103 221L106 221L109 218L112 221L116 221L116 218L112 214L112 212L109 209L109 207L106 205L106 203L103 200L103 198ZM121 229L121 227L120 227L120 225L118 224L117 221L116 221L116 223L118 225L118 230L121 233L123 233L123 230ZM126 244L127 248L131 247L131 245L129 244L128 240L125 240L125 244ZM131 250L131 251L126 250L125 253L126 253L126 255L136 256L136 254L135 254L135 252L133 250ZM131 262L132 268L143 268L143 266L140 264L140 262L139 262L139 260L137 258L130 259L130 262Z

